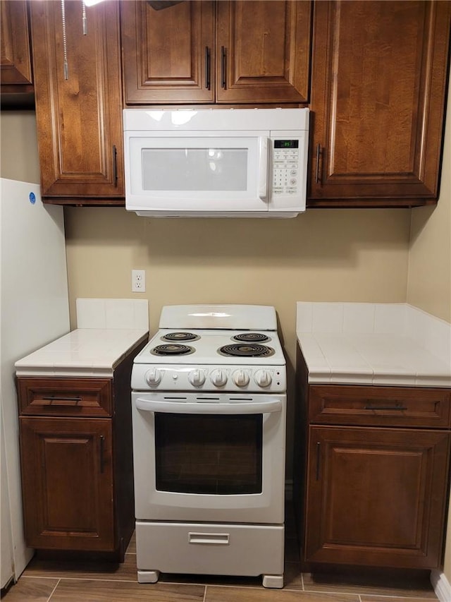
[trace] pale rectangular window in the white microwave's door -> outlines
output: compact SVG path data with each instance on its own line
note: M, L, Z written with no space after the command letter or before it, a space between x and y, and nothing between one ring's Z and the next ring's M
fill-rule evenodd
M246 191L247 148L144 148L146 191Z

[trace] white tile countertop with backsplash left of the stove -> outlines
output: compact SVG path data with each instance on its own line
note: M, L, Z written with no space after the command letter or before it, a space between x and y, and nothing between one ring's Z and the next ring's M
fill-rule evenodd
M78 328L16 361L16 375L111 378L149 337L145 299L77 299L76 306Z

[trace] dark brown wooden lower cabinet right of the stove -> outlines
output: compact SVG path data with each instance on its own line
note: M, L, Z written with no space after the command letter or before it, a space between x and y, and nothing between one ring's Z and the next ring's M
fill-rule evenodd
M295 510L304 570L443 562L451 390L311 384L297 349Z

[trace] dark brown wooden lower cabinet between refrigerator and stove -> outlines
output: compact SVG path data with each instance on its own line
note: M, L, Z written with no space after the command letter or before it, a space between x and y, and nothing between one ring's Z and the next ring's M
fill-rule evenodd
M135 529L130 375L146 342L111 378L17 380L25 540L41 555L124 558Z

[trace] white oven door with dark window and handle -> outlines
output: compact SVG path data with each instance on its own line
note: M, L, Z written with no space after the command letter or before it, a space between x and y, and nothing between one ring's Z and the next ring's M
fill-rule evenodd
M285 395L132 393L138 520L283 523Z

